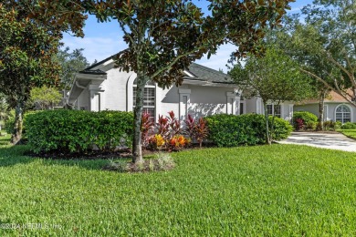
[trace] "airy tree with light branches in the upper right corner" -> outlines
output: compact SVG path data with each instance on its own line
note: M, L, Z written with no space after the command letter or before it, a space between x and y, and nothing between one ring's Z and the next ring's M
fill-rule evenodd
M356 5L353 0L314 0L288 41L303 57L301 70L356 106ZM291 56L302 55L291 52ZM348 89L352 88L349 93Z

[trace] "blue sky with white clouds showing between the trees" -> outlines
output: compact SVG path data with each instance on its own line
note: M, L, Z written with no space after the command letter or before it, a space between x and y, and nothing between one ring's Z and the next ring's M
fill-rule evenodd
M291 10L288 13L298 13L298 11L304 6L311 4L312 0L296 0L295 3L290 4ZM205 8L206 2L197 2L197 5ZM83 48L83 55L87 57L89 64L93 63L95 59L98 61L110 57L121 50L125 49L126 43L122 40L122 34L118 23L115 21L109 23L98 23L97 19L89 15L89 18L84 27L83 38L64 34L62 42L64 46L68 46L70 49ZM215 55L209 59L203 57L200 60L196 60L195 63L204 65L205 67L211 67L216 70L223 69L227 71L225 65L230 58L230 54L236 50L236 46L224 45L220 46Z

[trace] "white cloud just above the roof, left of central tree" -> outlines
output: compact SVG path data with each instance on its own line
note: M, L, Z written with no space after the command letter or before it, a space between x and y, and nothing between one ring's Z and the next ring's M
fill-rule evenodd
M64 46L69 46L70 49L84 48L83 55L87 57L89 63L110 57L120 50L126 48L126 44L118 37L100 37L100 36L85 36L79 38L75 36L65 35L63 37Z

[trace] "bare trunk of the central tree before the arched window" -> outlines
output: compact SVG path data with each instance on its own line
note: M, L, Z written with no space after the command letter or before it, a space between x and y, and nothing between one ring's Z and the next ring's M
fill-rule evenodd
M134 118L134 133L132 143L132 162L139 163L142 159L142 144L141 144L141 115L143 109L143 94L144 86L146 85L148 78L137 75L137 88L136 88L136 105L133 111Z

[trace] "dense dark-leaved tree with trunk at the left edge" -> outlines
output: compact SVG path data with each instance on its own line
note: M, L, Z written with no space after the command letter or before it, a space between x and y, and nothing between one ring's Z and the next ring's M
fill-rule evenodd
M84 1L87 2L87 1ZM83 36L86 15L73 1L7 0L0 4L0 92L16 109L13 143L21 139L30 90L58 84L62 31Z

